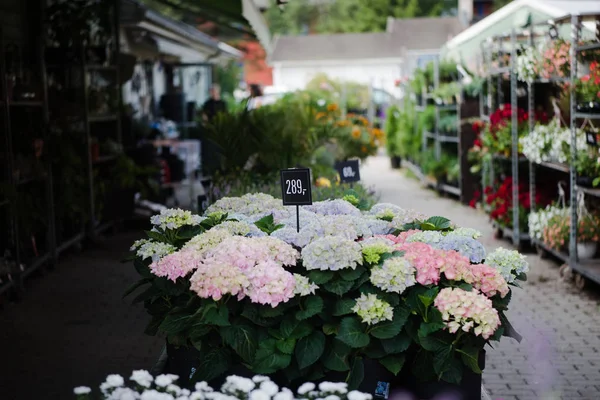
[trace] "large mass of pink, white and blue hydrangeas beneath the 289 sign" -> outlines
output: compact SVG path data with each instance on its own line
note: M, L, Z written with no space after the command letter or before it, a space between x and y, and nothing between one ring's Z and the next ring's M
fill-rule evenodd
M486 343L518 337L504 313L526 262L487 256L479 232L446 218L338 199L305 207L298 232L265 194L181 213L154 217L133 245L132 291L144 287L147 333L200 351L192 382L243 365L290 387L341 373L356 389L368 361L459 383L481 372Z

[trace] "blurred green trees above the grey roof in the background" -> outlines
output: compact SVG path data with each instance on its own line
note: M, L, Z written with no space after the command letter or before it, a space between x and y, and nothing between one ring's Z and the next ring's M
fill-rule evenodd
M456 0L291 0L283 10L271 7L266 19L271 32L382 32L387 18L440 16L456 8Z

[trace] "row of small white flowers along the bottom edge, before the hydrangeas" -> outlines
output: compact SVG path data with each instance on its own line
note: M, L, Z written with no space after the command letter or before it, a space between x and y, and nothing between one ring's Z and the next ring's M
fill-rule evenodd
M296 392L279 387L269 377L256 375L251 378L231 375L225 379L220 390L214 390L207 382L198 382L193 389L177 384L179 377L162 374L153 377L148 371L133 371L129 385L120 375L109 375L100 385L105 400L372 400L373 396L356 390L348 390L342 382L312 382L302 384ZM92 389L78 386L73 389L78 400L90 400Z

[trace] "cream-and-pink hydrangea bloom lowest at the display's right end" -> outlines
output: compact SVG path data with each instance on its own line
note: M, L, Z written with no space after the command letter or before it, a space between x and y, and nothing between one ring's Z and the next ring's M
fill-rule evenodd
M444 288L433 304L442 313L442 319L451 333L462 329L489 339L500 326L500 317L492 301L476 291Z

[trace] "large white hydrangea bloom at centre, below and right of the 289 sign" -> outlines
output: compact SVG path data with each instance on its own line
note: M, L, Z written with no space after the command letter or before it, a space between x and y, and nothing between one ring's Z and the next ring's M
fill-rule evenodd
M322 237L302 249L302 265L307 270L354 269L361 262L360 245L341 236Z

